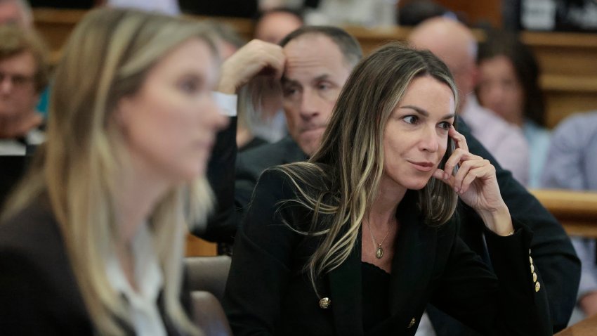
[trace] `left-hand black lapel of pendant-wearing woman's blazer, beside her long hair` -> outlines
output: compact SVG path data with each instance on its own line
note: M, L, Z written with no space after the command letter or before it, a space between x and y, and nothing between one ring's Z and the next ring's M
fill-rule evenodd
M360 246L359 233L348 259L328 275L336 335L363 335Z

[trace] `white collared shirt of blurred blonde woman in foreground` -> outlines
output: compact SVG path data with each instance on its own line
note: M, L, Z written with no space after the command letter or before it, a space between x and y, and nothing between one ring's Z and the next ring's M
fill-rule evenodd
M116 253L112 253L106 261L108 281L114 290L126 297L132 327L137 335L165 336L166 328L157 306L164 279L155 254L152 233L146 223L140 226L133 238L132 248L138 291L133 290L126 279Z

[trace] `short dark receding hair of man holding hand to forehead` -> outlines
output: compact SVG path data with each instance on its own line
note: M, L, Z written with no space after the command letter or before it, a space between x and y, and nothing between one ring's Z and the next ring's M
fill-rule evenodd
M288 34L282 41L280 41L280 46L287 45L290 41L301 37L303 35L323 35L329 37L336 46L340 49L344 56L344 60L346 63L351 67L356 65L359 60L362 58L362 50L359 42L355 37L348 34L346 30L343 30L339 27L332 27L332 26L303 26Z

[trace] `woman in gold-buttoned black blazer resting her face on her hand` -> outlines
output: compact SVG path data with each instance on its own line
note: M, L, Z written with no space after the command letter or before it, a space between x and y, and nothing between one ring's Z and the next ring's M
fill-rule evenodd
M450 71L389 44L353 70L308 162L260 177L224 306L235 335L414 335L428 303L482 335L551 335L532 233L454 127ZM493 269L460 240L483 219Z

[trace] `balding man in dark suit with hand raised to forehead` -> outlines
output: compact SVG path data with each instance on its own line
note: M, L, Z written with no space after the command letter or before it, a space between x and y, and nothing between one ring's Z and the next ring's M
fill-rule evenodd
M281 83L289 136L238 155L235 206L230 207L225 218L210 222L202 233L209 240L232 242L258 177L265 169L306 160L315 153L342 86L362 57L354 37L336 27L301 27L285 37L280 46L285 57ZM485 157L496 167L499 189L511 216L534 231L532 262L542 272L541 287L547 290L550 300L553 330L565 328L575 305L580 272L568 235L510 172L501 169L461 119L457 124L470 152ZM462 238L471 249L485 256L483 221L470 207L460 205L457 211L463 226ZM569 285L558 285L561 283Z

